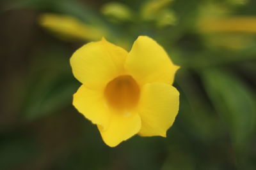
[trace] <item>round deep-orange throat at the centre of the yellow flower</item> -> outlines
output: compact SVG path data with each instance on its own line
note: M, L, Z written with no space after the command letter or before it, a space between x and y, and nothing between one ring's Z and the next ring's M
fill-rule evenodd
M123 75L109 81L104 95L111 108L131 110L140 99L140 88L132 76Z

